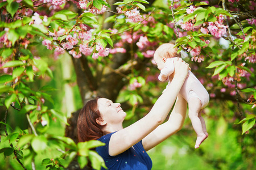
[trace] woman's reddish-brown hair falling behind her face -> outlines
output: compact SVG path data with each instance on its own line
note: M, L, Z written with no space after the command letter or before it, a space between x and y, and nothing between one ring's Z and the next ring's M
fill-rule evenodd
M102 126L97 124L97 118L101 118L98 110L98 99L89 100L79 113L77 120L77 135L79 142L97 140L104 135Z

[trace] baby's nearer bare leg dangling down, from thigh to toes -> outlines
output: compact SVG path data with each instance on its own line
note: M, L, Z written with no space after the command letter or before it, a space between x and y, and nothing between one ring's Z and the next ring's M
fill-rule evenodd
M197 139L195 148L199 148L201 143L208 137L206 132L205 122L203 117L201 117L201 107L202 104L200 100L196 97L192 97L188 101L188 116L191 120L193 129L196 131Z

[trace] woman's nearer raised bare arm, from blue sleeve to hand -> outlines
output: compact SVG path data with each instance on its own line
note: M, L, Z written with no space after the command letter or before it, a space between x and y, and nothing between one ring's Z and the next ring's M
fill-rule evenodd
M126 151L163 123L188 74L188 64L183 62L181 58L175 61L175 73L166 92L159 97L145 117L112 135L109 142L110 155L115 156Z

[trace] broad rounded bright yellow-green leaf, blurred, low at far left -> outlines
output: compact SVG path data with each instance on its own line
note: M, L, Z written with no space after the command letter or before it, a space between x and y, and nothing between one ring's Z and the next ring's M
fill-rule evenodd
M47 147L47 139L44 136L37 136L32 139L31 146L33 150L40 154L42 151L46 150Z

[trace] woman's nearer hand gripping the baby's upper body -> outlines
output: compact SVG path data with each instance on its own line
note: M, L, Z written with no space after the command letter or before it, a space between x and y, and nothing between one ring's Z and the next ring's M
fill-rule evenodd
M177 76L181 79L187 77L189 69L188 63L184 62L181 58L177 58L177 60L174 61L174 66L174 77Z

